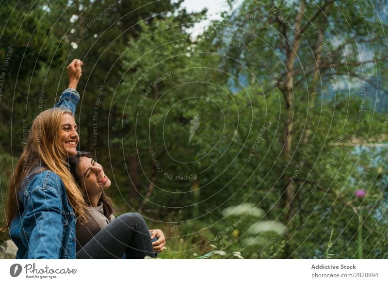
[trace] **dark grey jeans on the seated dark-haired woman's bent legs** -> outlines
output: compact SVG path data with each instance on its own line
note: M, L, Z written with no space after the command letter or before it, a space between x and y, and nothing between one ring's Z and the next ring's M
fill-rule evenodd
M80 251L77 259L128 259L155 257L146 222L138 213L118 216L98 232Z

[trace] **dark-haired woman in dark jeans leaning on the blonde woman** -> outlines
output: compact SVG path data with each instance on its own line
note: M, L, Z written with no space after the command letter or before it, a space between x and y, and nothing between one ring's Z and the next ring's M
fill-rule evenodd
M143 259L163 251L165 238L161 230L148 230L138 213L113 216L112 202L104 194L111 186L100 164L88 152L69 157L69 164L89 209L86 222L77 222L77 258ZM151 234L151 236L150 236Z

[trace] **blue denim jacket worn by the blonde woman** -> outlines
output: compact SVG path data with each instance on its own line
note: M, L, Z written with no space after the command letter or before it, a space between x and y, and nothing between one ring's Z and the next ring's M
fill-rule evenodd
M79 100L76 90L66 89L54 107L74 114ZM17 197L19 214L10 225L16 259L74 259L76 216L61 178L50 170L32 173Z

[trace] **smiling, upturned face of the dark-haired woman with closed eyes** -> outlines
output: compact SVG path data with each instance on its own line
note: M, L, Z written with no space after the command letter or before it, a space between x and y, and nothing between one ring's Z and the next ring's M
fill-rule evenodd
M111 180L104 174L102 166L86 156L81 157L77 175L81 180L81 189L85 190L89 197L101 195L102 191L112 184Z

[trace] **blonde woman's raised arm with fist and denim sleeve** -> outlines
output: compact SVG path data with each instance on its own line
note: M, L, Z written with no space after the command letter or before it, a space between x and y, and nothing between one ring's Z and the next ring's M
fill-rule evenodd
M82 61L74 59L69 66L67 66L67 75L69 77L68 88L62 93L61 97L54 108L68 109L73 114L76 112L78 102L80 101L80 94L77 92L77 85L82 76Z

